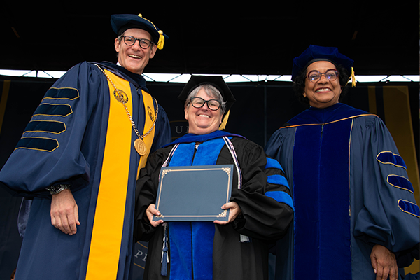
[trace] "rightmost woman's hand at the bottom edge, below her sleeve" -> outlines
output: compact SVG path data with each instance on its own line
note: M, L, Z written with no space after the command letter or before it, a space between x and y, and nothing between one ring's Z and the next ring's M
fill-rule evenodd
M381 245L375 245L370 253L370 260L377 280L398 279L398 266L394 253Z

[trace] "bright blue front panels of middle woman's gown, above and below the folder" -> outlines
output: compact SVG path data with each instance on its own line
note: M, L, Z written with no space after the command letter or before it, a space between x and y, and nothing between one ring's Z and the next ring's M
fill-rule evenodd
M180 144L169 166L216 165L224 145L223 138L209 139L195 152L195 142ZM214 232L211 222L169 223L170 279L213 279Z

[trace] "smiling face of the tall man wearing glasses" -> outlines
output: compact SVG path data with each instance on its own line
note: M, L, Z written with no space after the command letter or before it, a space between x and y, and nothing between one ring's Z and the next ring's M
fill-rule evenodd
M151 34L143 29L127 29L124 32L124 35L152 41ZM136 41L136 43L134 43L132 46L126 45L124 43L124 38L121 41L116 38L115 47L116 51L118 52L118 62L120 62L121 66L123 66L128 71L137 73L139 75L143 73L149 59L155 56L157 48L157 46L153 44L144 50L143 48L140 48L139 41Z

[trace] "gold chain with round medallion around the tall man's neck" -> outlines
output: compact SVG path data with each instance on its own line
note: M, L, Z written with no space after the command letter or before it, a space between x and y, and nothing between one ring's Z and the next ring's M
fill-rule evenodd
M128 111L127 106L125 105L128 102L128 97L127 94L125 94L125 92L123 92L123 90L118 90L116 85L113 83L113 81L111 80L111 78L109 78L108 74L104 71L104 69L102 69L98 64L94 64L95 66L97 66L99 68L99 70L102 71L102 73L104 73L104 75L106 76L106 78L109 80L109 82L111 83L111 85L114 88L114 97L116 97L116 99L118 100L118 102L120 102L121 104L123 104L125 111L127 112L127 116L130 119L130 122L132 124L133 130L134 132L136 132L137 134L137 139L134 141L134 148L136 149L137 153L139 153L139 155L146 155L147 153L147 146L146 143L144 143L143 139L144 137L148 136L148 134L150 134L153 130L153 127L155 127L156 125L156 120L158 120L158 112L159 112L159 105L158 105L158 101L155 99L155 97L153 97L153 99L155 100L156 103L156 113L155 113L155 119L153 120L153 125L151 127L150 130L148 130L148 132L146 132L143 135L140 135L139 130L137 129L136 124L134 123L134 120L130 114L130 111Z

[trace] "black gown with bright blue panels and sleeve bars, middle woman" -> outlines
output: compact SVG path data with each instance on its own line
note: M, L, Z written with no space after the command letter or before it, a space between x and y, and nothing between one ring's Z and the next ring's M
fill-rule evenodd
M169 263L161 275L164 227L144 218L155 204L160 168L175 144L179 144L168 166L230 165L234 158L225 141L229 137L237 153L242 174L239 189L237 169L233 173L230 201L241 214L227 225L213 222L168 222ZM267 158L262 147L228 132L186 134L176 143L149 156L137 181L134 235L149 241L144 279L268 279L268 246L286 232L293 219L293 202L279 162ZM241 242L241 235L251 242Z

